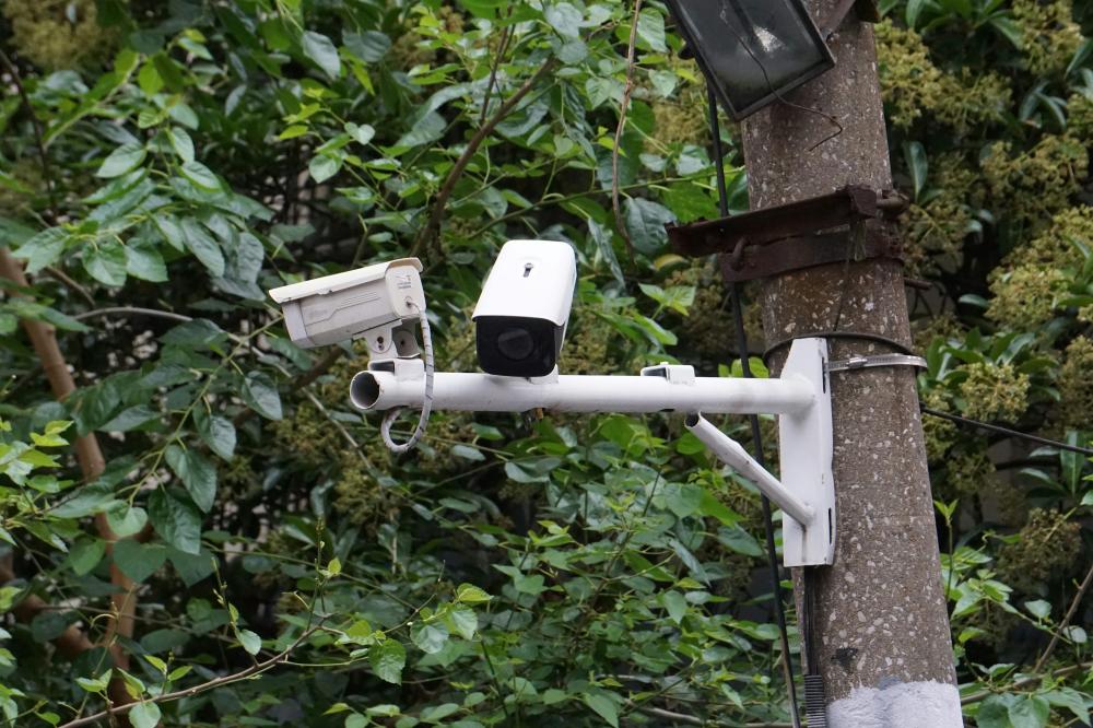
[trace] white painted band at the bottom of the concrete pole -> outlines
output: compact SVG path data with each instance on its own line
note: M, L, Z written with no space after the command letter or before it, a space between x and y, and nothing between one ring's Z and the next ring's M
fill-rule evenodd
M831 728L963 728L960 692L940 682L855 688L827 706Z

